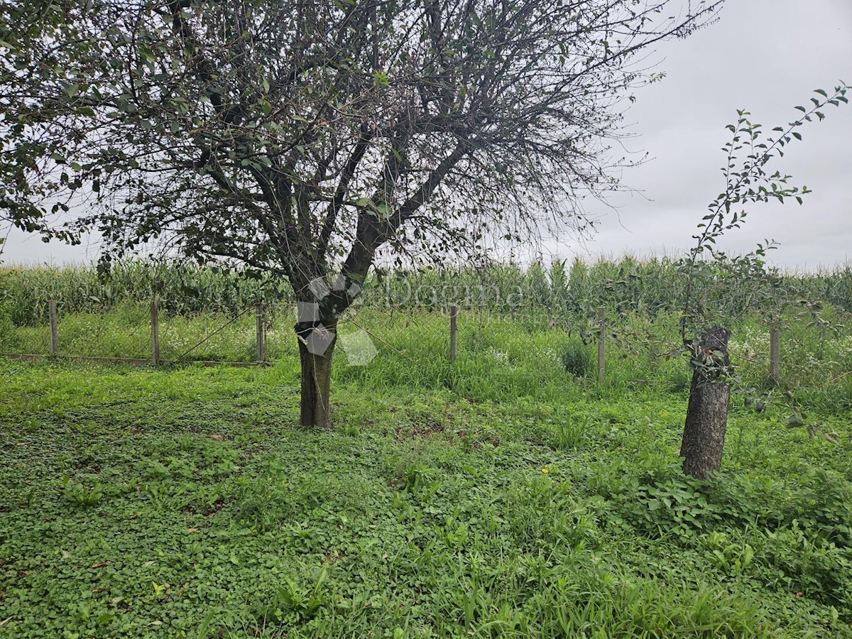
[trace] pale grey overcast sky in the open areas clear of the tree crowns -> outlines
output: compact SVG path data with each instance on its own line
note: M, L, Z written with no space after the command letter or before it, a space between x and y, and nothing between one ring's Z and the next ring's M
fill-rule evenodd
M724 188L724 127L736 109L746 108L752 121L771 130L795 119L793 107L808 103L813 89L852 82L852 0L728 0L715 25L664 43L651 60L659 60L666 78L637 92L626 120L636 135L626 147L651 158L623 176L642 193L613 195L608 201L616 210L590 204L590 214L601 216L598 233L584 243L550 247L556 256L650 256L688 248L706 205ZM780 249L772 261L785 267L852 261L852 105L828 107L826 116L806 126L803 142L770 167L814 193L802 206L752 206L745 226L723 245L747 251L776 239ZM13 232L3 261L82 262L96 251L96 243L45 245Z

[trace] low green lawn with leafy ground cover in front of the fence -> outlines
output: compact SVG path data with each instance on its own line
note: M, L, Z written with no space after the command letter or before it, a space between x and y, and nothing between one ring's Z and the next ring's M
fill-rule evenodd
M292 360L0 360L0 636L852 636L849 384L838 444L734 400L702 483L676 365L457 365L340 364L318 432Z

